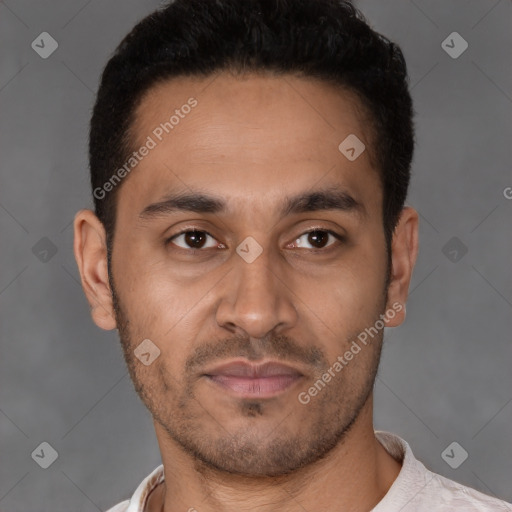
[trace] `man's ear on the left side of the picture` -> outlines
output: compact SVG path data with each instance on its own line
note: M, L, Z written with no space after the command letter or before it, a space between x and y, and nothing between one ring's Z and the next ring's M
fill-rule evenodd
M105 228L94 212L80 210L75 215L74 233L75 259L82 288L91 306L92 319L102 329L115 329L112 291L108 281Z

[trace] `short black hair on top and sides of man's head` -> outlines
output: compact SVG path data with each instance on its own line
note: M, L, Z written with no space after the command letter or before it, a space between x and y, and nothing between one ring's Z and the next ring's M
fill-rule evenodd
M414 150L407 69L400 48L343 0L175 0L133 28L103 71L90 126L91 184L107 246L120 186L94 191L133 152L130 129L141 98L173 77L222 71L296 74L356 94L375 135L389 256Z

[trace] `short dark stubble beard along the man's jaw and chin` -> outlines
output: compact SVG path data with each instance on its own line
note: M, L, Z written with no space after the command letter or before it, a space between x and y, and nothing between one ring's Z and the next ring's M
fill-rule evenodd
M309 421L305 430L299 429L297 432L296 428L291 429L294 433L290 434L287 421L293 421L295 409L292 409L287 416L276 416L272 422L273 429L266 428L262 433L256 422L268 416L267 404L264 400L250 400L240 401L238 407L239 414L247 422L243 427L228 432L197 400L194 382L188 378L184 379L184 383L178 382L162 365L163 358L152 364L153 373L148 374L147 368L142 367L133 352L140 340L132 332L113 279L110 281L119 338L135 391L169 440L190 455L196 467L202 467L204 471L246 477L289 475L323 459L343 443L371 397L379 366L382 332L371 346L363 349L372 353L366 366L360 368L365 372L360 384L355 386L345 379L344 369L308 405L301 405L295 394L290 395L290 400L296 402L299 414L307 408ZM355 339L363 330L364 327L348 339ZM241 349L239 353L243 355L252 350L247 340L226 341L231 343L231 348L226 347L231 355L233 343L238 343ZM266 355L283 352L282 344L281 348L277 348L277 344L267 346L273 347L273 350L270 351L272 354L267 351ZM219 351L216 350L216 353ZM316 352L317 362L327 369L330 364L322 354L321 351ZM286 359L286 355L282 357ZM151 377L148 378L148 375Z

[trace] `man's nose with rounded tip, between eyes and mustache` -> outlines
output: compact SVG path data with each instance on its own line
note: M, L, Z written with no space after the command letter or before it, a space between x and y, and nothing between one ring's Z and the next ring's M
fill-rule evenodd
M268 250L252 263L233 255L234 268L216 311L218 325L230 332L263 338L297 322L291 283Z

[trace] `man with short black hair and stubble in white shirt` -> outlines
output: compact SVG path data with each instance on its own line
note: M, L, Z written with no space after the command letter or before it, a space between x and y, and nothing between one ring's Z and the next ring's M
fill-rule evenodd
M176 0L108 63L75 255L163 465L135 511L508 505L373 429L418 214L399 48L335 0Z

